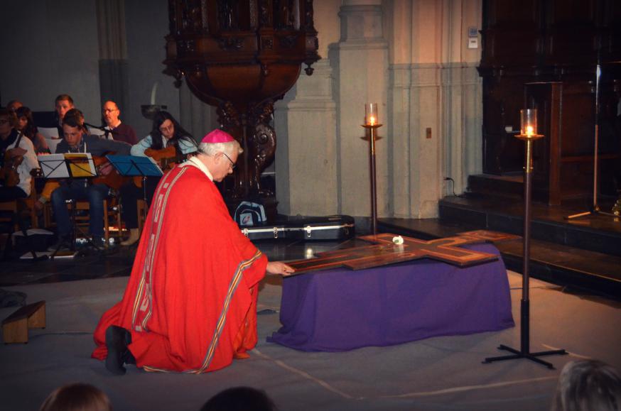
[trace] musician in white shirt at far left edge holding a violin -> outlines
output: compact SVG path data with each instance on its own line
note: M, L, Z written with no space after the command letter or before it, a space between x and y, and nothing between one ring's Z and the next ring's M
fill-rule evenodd
M0 109L0 202L28 197L30 172L39 166L33 143L17 131L16 123L12 111Z

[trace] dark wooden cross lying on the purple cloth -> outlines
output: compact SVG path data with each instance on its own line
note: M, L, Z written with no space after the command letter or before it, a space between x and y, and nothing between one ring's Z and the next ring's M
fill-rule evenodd
M487 235L488 234L488 235ZM308 273L330 268L347 267L352 270L379 267L419 258L433 258L445 263L467 267L469 265L487 263L497 260L496 254L459 248L465 244L481 243L486 237L496 240L515 236L494 236L492 231L476 231L476 234L464 233L446 239L423 241L411 237L401 236L402 244L394 243L395 234L377 234L376 236L361 236L359 239L374 243L369 246L344 248L336 251L317 253L318 258L298 260L287 263L296 269L293 275Z

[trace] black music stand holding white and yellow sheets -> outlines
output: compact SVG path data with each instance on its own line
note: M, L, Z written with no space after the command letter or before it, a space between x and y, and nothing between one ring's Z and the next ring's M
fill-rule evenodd
M97 177L97 168L92 161L92 155L90 153L65 153L65 154L50 154L50 155L38 155L37 159L41 165L41 172L45 179L55 178L92 178ZM77 239L77 224L75 221L75 200L70 199L68 202L71 204L71 223L72 230L70 236L70 251L75 252L75 240ZM82 231L80 231L84 234ZM95 248L97 251L101 251L95 243L93 243L88 236L85 236L87 243ZM50 255L50 258L54 258L60 250L58 247Z

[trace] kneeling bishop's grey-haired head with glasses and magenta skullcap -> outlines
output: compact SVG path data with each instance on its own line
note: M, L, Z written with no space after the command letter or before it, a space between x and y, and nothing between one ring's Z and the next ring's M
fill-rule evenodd
M214 181L222 181L231 174L237 163L237 156L243 152L233 136L218 129L208 133L198 145L200 158Z

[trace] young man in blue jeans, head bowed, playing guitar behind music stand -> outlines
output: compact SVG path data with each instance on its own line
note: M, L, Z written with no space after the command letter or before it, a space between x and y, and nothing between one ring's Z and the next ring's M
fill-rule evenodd
M58 143L56 153L91 153L94 157L102 157L107 153L127 155L131 146L122 141L106 140L99 136L89 136L84 127L84 116L77 109L71 109L63 117L63 141ZM99 173L108 175L112 166L107 164L100 168ZM103 246L104 239L104 205L103 200L109 195L109 187L102 183L93 184L88 178L66 179L52 192L51 202L58 226L58 243L53 249L70 246L72 225L65 203L68 199L87 200L90 207L89 231L95 246ZM51 247L50 247L51 248Z

